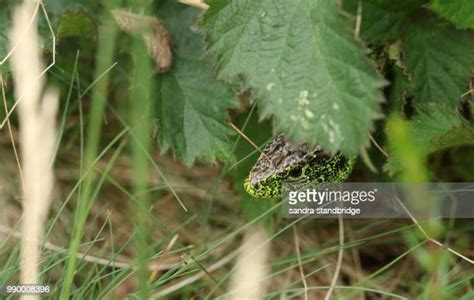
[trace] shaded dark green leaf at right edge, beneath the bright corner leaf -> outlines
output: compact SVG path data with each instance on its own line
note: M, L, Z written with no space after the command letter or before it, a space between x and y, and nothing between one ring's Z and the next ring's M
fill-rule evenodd
M473 35L430 18L413 23L403 43L415 101L456 107L473 76Z

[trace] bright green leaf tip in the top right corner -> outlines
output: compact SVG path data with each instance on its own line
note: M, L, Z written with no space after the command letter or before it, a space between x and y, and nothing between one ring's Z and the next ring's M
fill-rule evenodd
M474 1L433 0L428 7L458 28L474 29Z

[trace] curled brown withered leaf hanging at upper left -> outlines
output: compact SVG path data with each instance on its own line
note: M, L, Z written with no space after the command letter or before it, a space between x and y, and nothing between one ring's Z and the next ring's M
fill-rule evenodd
M142 36L148 53L155 60L156 72L166 72L171 68L171 36L157 18L137 15L124 9L114 9L112 15L121 30Z

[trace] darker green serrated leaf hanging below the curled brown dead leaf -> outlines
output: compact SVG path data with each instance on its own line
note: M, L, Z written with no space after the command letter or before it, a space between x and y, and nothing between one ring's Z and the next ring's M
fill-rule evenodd
M176 51L172 69L158 79L160 146L163 151L172 148L187 165L197 158L227 160L233 131L225 123L226 110L236 106L236 97L229 85L214 78L203 57L202 37L191 31L198 11L169 2L160 14Z

